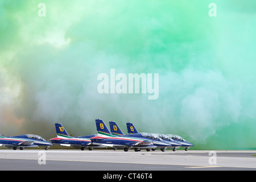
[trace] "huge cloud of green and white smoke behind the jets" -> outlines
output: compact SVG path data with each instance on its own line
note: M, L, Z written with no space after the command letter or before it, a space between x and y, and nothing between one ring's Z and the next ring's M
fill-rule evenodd
M1 1L1 132L95 134L102 118L197 149L255 147L255 2L215 1L213 17L211 2ZM158 99L98 93L111 68L159 73Z

